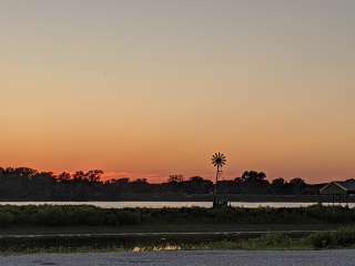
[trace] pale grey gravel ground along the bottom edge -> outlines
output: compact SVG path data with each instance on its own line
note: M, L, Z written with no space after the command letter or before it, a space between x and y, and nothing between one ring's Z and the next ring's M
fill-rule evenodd
M355 249L322 252L160 252L33 254L0 257L1 266L354 266Z

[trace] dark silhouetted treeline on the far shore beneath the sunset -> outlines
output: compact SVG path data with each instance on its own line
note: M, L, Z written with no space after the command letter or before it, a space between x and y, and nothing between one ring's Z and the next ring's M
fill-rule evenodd
M0 201L120 201L161 196L179 200L213 194L213 182L200 176L184 180L182 175L171 175L166 182L153 184L145 178L104 181L102 174L100 170L53 174L28 167L0 167ZM280 177L270 182L263 172L246 171L241 177L220 181L217 191L231 195L315 195L321 186L306 184L302 178L287 182Z

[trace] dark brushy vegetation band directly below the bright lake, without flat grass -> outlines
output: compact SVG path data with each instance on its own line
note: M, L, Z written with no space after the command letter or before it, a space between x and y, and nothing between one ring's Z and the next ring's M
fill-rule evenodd
M0 206L0 226L125 226L156 224L343 224L355 223L355 208L314 205L297 208L225 209L100 208L90 205Z

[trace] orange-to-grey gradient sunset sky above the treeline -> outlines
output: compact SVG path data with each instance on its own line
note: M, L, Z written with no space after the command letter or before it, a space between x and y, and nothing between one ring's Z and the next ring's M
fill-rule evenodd
M0 165L355 177L355 1L3 0Z

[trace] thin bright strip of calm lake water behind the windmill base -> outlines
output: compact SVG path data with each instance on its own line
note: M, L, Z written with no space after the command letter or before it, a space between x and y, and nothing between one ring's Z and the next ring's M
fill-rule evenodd
M212 207L211 202L0 202L0 205L94 205L103 208L124 208L124 207L149 207L149 208L161 208L161 207ZM232 206L235 207L250 207L255 208L260 206L268 207L302 207L311 206L315 203L295 203L295 202L232 202ZM325 204L331 205L331 204ZM344 204L345 205L345 204ZM349 207L355 207L355 203L349 203Z

